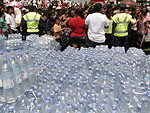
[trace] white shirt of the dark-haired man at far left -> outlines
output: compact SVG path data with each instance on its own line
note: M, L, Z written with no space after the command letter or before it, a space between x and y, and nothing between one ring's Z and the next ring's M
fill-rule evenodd
M14 17L14 15L13 14L11 14L11 15L6 14L5 20L6 20L7 24L10 24L11 29L14 30L14 31L16 31L16 25L15 25L15 17Z

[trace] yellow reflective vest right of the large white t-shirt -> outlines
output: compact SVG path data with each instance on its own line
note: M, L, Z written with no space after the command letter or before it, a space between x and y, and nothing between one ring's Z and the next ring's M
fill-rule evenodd
M112 20L117 24L115 27L114 36L128 36L128 25L131 22L132 16L126 13L119 13L113 16Z

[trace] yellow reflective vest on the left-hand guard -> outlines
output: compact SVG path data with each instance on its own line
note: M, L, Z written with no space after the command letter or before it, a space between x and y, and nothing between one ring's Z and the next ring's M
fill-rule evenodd
M41 18L41 15L36 12L29 12L26 15L23 16L24 20L27 23L27 32L39 32L39 21Z

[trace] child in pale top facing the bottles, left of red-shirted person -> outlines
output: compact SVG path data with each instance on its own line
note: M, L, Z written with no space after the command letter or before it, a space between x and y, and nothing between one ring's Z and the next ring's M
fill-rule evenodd
M56 37L56 40L61 39L62 31L65 28L62 29L61 24L60 24L60 19L56 17L55 19L55 25L54 25L54 36Z

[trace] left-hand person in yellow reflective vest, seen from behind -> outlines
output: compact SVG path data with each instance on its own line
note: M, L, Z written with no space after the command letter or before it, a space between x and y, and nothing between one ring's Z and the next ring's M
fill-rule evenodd
M29 13L23 16L21 25L22 25L22 40L26 40L26 36L30 34L39 34L43 33L43 25L41 15L36 13L34 10L35 6L29 5Z

